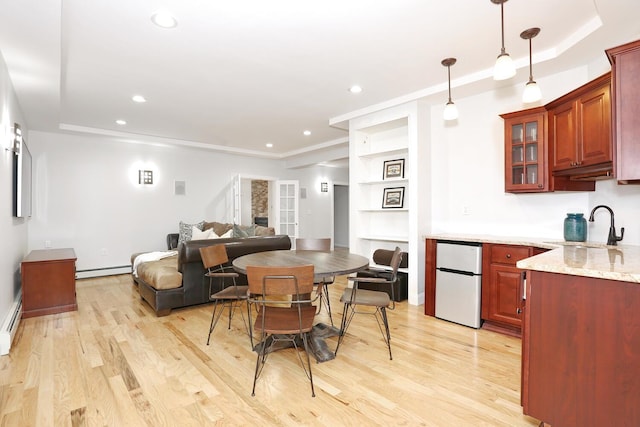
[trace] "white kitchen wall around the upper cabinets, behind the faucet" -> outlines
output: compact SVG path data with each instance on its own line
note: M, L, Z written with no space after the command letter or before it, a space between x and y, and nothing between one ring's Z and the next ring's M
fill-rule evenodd
M606 72L601 63L537 79L543 103ZM640 186L619 186L615 180L596 183L595 192L508 194L504 192L504 122L499 114L523 109L523 84L456 99L460 118L442 120L442 105L433 106L430 159L432 215L435 233L471 233L563 239L567 212L588 217L598 204L615 212L616 226L627 226L623 243L639 244L637 223ZM589 223L588 239L606 242L609 215Z

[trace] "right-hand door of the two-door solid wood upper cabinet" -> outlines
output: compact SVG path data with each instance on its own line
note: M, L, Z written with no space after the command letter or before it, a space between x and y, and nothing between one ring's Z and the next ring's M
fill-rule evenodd
M610 162L612 144L609 84L581 96L577 108L580 120L578 166Z

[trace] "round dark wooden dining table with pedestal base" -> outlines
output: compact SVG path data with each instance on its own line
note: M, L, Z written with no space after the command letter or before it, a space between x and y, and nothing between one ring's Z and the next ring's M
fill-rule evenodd
M242 274L247 273L247 266L295 267L298 265L314 266L315 282L321 282L327 277L354 273L369 266L369 260L361 255L345 251L308 251L308 250L279 250L256 252L243 255L233 260L233 268ZM311 331L313 356L318 362L335 359L335 353L329 350L325 338L338 336L340 329L316 324Z

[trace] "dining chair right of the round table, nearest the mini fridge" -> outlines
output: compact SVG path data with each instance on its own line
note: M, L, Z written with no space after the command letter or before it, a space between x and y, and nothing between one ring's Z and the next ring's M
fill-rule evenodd
M396 247L391 257L391 275L388 277L348 277L347 280L353 283L352 287L347 287L340 302L344 304L342 311L342 321L340 323L340 335L338 336L338 344L336 345L336 355L338 348L344 339L347 329L353 320L355 314L372 314L378 323L382 338L389 348L389 360L393 360L391 355L391 333L389 332L389 321L387 319L387 309L395 309L394 284L398 275L398 267L402 261L402 251ZM385 291L372 291L368 289L360 289L362 283L375 283L378 286L386 285L391 290L390 294ZM359 311L358 307L369 307L363 311ZM370 308L374 308L373 311Z

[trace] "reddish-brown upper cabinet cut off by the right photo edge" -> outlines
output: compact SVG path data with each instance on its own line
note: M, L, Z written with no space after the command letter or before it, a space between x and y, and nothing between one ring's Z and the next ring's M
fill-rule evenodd
M640 40L607 50L611 62L616 178L640 184Z

